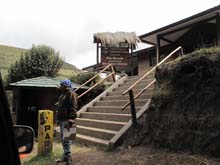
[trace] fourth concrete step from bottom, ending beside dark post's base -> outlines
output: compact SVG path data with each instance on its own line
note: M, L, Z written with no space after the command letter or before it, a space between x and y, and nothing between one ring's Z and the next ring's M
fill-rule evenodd
M96 112L81 112L80 117L87 119L119 121L119 122L128 122L131 119L130 114L96 113Z

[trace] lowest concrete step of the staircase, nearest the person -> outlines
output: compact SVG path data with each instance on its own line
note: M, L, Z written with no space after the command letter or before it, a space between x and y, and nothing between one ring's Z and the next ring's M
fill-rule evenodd
M81 143L85 143L85 144L89 144L89 145L91 145L91 144L99 145L102 147L107 147L108 143L109 143L108 140L103 140L103 139L95 138L92 136L82 135L79 133L76 134L76 140Z

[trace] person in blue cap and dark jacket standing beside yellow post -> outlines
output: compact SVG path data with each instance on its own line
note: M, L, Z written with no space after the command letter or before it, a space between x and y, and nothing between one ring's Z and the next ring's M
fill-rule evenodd
M72 138L65 137L65 131L69 131L75 126L75 118L77 117L77 99L76 93L71 87L71 81L68 79L60 82L61 95L57 102L57 119L60 126L61 142L63 147L63 156L58 159L57 163L70 163ZM76 129L76 126L75 126ZM76 132L75 132L76 133ZM74 134L75 134L74 133Z

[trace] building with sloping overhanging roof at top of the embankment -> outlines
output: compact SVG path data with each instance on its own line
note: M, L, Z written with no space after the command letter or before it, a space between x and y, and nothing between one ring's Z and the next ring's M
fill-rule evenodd
M178 46L184 54L220 44L220 5L139 36L151 47L134 52L138 74L156 65Z

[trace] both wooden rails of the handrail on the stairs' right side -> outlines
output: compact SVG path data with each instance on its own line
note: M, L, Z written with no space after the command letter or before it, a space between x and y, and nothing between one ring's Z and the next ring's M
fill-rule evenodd
M148 76L152 71L154 71L159 65L164 63L168 58L170 58L174 53L176 53L178 50L181 50L181 55L183 55L183 49L181 46L173 50L167 57L165 57L161 62L159 62L155 67L153 67L150 71L148 71L146 74L144 74L140 79L138 79L134 84L132 84L127 90L125 90L122 94L125 95L129 91L132 91L132 89L146 76ZM156 79L151 81L144 89L142 89L138 94L134 97L134 100L137 99L147 88L149 88L152 84L156 82ZM128 101L121 109L124 110L128 105L130 104L130 101Z

